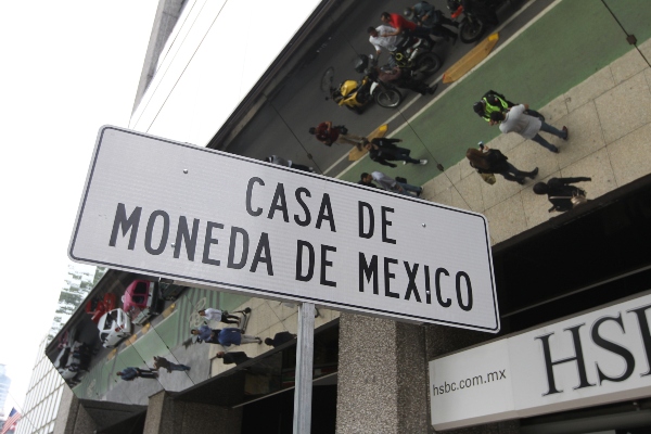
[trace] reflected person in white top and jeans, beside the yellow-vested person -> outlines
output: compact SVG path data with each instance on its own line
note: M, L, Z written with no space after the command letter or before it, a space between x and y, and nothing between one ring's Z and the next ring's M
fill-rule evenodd
M551 125L544 123L539 118L525 114L524 111L527 108L527 104L520 104L513 106L507 113L493 112L490 113L490 125L499 124L499 130L505 135L509 132L518 132L525 139L533 140L542 148L546 148L549 151L558 154L559 149L540 137L538 132L549 132L550 135L560 137L563 140L567 140L567 137L570 136L567 127L563 127L562 130L558 130Z

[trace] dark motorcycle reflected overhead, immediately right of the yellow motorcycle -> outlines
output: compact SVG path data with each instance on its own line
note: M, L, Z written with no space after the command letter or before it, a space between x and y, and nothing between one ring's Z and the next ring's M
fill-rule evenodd
M443 65L441 58L431 50L432 42L425 39L408 37L398 43L398 49L391 54L395 66L404 71L409 71L416 79L422 79L424 77L420 77L421 75L432 75Z

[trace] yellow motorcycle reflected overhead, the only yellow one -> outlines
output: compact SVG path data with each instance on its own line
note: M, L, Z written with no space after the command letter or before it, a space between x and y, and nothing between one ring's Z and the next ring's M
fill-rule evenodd
M345 80L337 87L330 86L330 99L340 106L361 114L362 108L372 101L381 107L395 108L403 102L403 94L395 87L378 80L372 74L365 74L360 80Z

